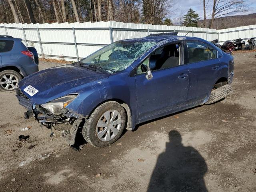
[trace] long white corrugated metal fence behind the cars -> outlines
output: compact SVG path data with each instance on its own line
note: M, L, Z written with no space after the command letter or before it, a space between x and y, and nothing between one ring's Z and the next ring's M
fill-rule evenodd
M53 24L0 24L0 35L21 38L26 46L33 46L46 58L76 60L112 42L141 38L152 33L178 32L180 36L194 36L220 42L236 38L256 37L256 25L214 30L209 28L134 24L123 22L86 22Z

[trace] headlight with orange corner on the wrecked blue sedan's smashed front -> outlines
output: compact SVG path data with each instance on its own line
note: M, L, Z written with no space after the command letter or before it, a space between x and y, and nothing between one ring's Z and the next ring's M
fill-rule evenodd
M46 110L55 113L58 110L61 110L63 108L66 108L68 104L70 104L77 95L68 95L64 96L55 100L52 100L46 104L42 104L41 106L45 108Z

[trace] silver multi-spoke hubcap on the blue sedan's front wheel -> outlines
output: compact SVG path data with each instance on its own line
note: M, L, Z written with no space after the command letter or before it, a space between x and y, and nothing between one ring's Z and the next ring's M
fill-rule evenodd
M110 141L120 131L122 118L117 110L106 111L98 120L96 133L100 140Z

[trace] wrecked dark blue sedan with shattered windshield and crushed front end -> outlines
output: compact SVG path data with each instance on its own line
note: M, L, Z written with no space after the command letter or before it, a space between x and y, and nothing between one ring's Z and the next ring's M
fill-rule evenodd
M25 118L61 126L70 146L80 127L89 144L105 147L124 128L226 97L233 74L233 57L206 40L158 34L32 74L16 92Z

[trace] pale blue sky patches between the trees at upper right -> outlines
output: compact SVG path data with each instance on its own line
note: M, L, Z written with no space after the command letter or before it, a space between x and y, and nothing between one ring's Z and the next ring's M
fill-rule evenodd
M213 0L209 0L210 3L212 1ZM207 0L206 0L206 2L207 2ZM256 0L245 0L245 2L249 5L249 10L247 12L234 13L234 14L230 14L230 15L242 15L242 14L247 15L247 14L251 14L251 13L256 13ZM175 20L175 18L178 16L178 15L174 16L175 13L184 15L188 12L188 10L190 8L195 10L196 13L198 13L199 16L201 18L203 18L204 9L203 9L203 1L202 0L173 0L172 12L173 12L173 10L176 10L176 11L170 15L170 18L172 20ZM210 12L212 12L211 5L208 7L208 11L206 11L206 12L208 12L208 14L210 14ZM209 16L209 18L210 18L210 16Z

